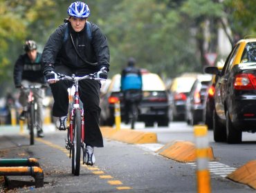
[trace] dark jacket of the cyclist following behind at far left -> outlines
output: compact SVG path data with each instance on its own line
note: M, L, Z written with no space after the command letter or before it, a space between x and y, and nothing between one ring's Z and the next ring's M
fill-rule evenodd
M20 85L22 80L35 83L46 83L43 74L42 54L37 52L35 62L31 62L28 54L21 54L15 63L13 78L15 85Z

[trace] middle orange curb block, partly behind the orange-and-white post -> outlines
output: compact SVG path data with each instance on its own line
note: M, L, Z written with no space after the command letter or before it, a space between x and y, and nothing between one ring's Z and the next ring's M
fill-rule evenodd
M156 153L180 162L196 161L196 146L190 141L172 141L160 150L157 150ZM210 161L214 160L211 147L208 149L208 158Z

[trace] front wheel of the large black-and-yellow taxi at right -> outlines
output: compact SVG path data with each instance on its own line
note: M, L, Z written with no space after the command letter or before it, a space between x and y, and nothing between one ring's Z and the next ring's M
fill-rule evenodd
M212 118L212 128L213 128L213 139L216 142L223 142L226 141L226 128L225 125L219 122L219 117L215 110L213 111L213 118Z

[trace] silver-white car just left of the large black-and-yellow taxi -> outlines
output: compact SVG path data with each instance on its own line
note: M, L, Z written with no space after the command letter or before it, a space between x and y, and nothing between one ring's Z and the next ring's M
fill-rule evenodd
M188 124L196 125L204 121L205 96L212 81L210 74L199 75L194 81L186 101L185 119Z

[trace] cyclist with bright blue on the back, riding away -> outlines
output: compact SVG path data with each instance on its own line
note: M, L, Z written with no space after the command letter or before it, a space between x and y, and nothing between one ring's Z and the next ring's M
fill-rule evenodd
M125 101L125 123L129 123L129 110L131 103L137 106L142 99L143 80L139 68L135 67L135 59L129 58L127 67L121 73L121 92Z

